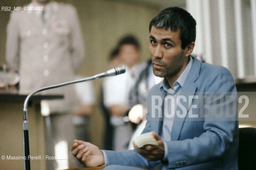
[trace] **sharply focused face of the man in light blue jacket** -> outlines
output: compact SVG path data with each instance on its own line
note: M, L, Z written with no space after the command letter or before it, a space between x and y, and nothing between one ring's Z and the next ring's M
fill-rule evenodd
M150 32L150 54L153 72L158 77L176 77L187 65L184 49L181 49L180 30L176 32L158 29Z

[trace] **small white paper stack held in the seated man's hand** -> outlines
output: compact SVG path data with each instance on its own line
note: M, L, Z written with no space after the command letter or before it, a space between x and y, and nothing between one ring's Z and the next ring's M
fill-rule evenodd
M134 143L139 148L145 145L158 145L156 139L153 137L152 132L139 135L134 139Z

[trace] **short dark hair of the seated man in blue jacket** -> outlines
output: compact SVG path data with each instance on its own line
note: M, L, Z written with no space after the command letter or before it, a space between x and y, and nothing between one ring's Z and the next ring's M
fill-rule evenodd
M150 21L150 31L152 26L159 29L180 30L181 48L185 49L188 44L195 42L196 22L193 16L180 7L168 7Z

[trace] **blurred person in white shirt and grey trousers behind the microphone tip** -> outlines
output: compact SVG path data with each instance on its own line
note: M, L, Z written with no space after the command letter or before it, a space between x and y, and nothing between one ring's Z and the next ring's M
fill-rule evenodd
M127 150L133 133L127 114L129 111L129 91L136 80L139 58L139 43L134 36L123 37L118 44L119 57L126 66L126 73L109 77L103 81L103 101L110 113L113 129L113 147L115 151ZM127 120L125 120L127 118Z

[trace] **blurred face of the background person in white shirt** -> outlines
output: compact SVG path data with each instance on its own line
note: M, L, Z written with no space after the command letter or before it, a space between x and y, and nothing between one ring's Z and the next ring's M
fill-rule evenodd
M119 56L128 67L132 67L139 58L139 52L135 45L125 44L120 47Z

